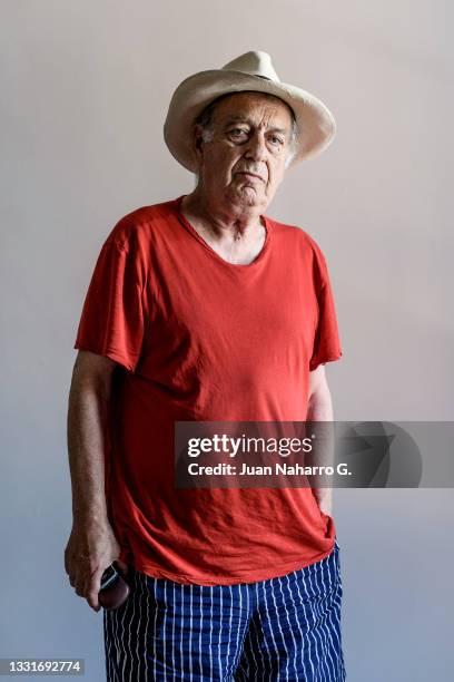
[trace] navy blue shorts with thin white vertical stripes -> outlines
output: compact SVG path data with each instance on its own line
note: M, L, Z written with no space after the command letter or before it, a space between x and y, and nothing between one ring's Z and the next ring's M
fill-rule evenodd
M193 585L131 569L131 593L103 612L107 682L344 682L337 539L282 577Z

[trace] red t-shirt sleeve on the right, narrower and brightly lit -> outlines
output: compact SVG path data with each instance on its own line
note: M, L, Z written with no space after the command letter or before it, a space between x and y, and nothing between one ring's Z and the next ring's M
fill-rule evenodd
M315 330L314 349L309 362L309 371L319 364L338 360L342 357L339 332L337 325L334 296L326 261L319 254L319 289L317 294L318 321Z

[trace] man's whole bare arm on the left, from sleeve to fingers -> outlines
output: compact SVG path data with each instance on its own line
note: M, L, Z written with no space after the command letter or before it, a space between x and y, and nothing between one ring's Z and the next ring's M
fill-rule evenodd
M72 530L65 568L79 596L99 611L103 571L120 547L108 520L105 494L103 433L116 362L79 351L68 401L68 457L72 487ZM120 567L126 568L121 562Z

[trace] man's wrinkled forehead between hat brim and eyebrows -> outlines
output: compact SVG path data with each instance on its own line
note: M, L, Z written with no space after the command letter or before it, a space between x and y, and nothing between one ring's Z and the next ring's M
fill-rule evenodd
M217 121L255 120L266 116L273 123L290 128L292 108L283 99L265 92L245 91L224 95L216 101L214 117Z

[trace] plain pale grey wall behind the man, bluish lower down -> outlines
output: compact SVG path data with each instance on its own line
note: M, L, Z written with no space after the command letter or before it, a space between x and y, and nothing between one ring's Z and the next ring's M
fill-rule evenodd
M72 344L114 224L193 188L161 136L189 74L263 49L335 114L267 212L327 257L335 417L453 419L452 25L447 0L3 0L1 656L103 679L101 614L63 569ZM349 682L447 679L452 490L336 490L334 517Z

